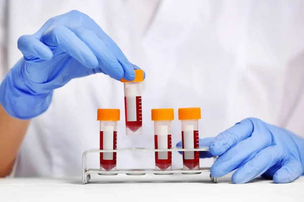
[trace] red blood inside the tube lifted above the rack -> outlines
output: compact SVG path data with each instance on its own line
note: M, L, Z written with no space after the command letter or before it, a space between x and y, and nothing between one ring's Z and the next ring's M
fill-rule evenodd
M126 127L135 132L142 127L141 96L136 96L136 121L128 121L127 97L125 97Z

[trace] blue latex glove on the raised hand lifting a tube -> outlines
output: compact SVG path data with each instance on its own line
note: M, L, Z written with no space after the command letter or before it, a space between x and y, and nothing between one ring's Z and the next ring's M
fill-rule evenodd
M104 73L133 80L139 69L94 20L78 11L53 17L33 35L21 36L18 48L24 57L0 86L0 103L18 119L45 112L53 90L73 78Z

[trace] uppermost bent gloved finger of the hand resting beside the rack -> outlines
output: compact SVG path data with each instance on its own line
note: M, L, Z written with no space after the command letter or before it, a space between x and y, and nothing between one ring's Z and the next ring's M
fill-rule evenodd
M235 124L233 127L219 133L210 142L210 153L214 156L224 154L228 149L249 137L253 131L253 123L250 119Z

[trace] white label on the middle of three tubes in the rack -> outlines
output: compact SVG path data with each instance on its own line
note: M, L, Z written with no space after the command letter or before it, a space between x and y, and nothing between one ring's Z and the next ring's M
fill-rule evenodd
M157 126L157 146L159 149L168 148L168 126ZM167 151L159 151L159 159L168 159Z

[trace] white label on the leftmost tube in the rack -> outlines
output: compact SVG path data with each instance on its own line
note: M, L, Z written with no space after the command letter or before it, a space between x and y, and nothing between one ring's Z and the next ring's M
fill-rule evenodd
M114 127L113 126L104 126L103 127L103 149L111 150L113 149L114 141ZM112 152L103 153L104 160L113 160Z

